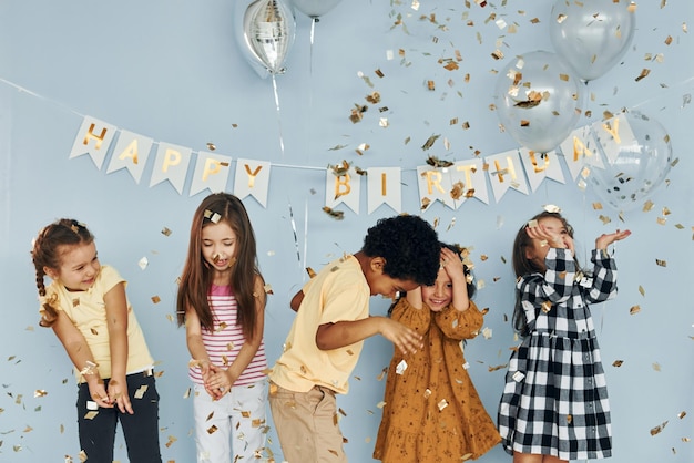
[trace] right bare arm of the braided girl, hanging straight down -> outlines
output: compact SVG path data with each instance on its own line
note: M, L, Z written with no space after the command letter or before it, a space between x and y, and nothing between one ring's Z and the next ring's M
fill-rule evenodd
M109 329L109 349L111 351L111 380L109 398L115 402L121 413L133 414L125 374L127 369L127 300L125 284L120 282L103 297L106 305L106 327Z

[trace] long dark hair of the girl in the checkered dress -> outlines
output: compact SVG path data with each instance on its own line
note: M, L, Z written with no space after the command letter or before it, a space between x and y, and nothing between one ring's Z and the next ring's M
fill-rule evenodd
M543 210L540 214L537 214L534 217L532 217L528 222L532 222L532 220L540 222L543 218L548 218L548 217L557 218L561 220L564 228L567 228L567 233L573 239L573 227L569 225L567 219L560 213L550 213L550 212ZM513 272L516 272L517 281L521 277L524 277L531 274L544 274L545 271L544 267L539 266L537 263L532 261L525 256L525 248L532 244L532 238L528 236L527 228L528 228L528 223L523 224L523 226L520 227L520 229L516 234L516 239L513 240L512 259L513 259ZM573 259L576 261L576 268L579 268L575 256L573 257ZM528 320L525 319L525 313L521 305L522 302L521 296L522 296L521 290L517 288L516 289L516 305L513 307L513 329L518 331L519 335L524 337L524 336L528 336L529 331L528 331Z

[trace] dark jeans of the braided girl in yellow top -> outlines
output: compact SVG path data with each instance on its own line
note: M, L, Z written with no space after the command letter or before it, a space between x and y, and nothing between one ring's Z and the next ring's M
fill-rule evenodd
M149 374L149 375L147 375ZM90 410L91 401L86 383L79 384L78 390L78 424L80 445L86 453L89 463L112 463L113 445L115 442L115 426L121 422L123 438L127 446L130 463L161 463L162 456L159 446L159 393L151 371L133 373L125 377L127 394L134 414L121 413L118 405L112 409L99 409L92 419L84 418ZM108 388L109 380L104 380ZM141 399L135 393L146 385Z

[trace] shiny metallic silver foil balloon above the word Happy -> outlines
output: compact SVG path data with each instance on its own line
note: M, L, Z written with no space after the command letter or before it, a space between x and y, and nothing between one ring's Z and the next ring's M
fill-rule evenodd
M283 0L255 0L239 16L246 60L262 78L283 74L296 31L292 9Z

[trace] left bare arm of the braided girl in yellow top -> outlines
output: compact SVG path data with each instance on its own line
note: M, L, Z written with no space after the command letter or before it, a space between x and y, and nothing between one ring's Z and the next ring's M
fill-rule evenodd
M65 352L68 352L68 357L72 360L72 364L76 368L78 371L83 371L84 380L89 387L89 392L94 402L99 404L99 407L111 408L113 407L109 401L109 394L103 387L103 381L99 375L99 369L86 368L85 367L90 362L91 364L95 364L94 356L92 354L84 336L80 332L80 330L72 323L70 317L65 315L62 310L58 311L58 319L55 323L52 326L53 332L65 348Z

